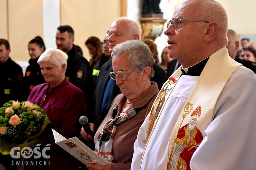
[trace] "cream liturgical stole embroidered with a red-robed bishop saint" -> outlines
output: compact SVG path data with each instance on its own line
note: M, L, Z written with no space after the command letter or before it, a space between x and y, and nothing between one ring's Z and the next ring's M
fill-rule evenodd
M190 169L190 159L205 137L205 129L212 122L219 95L230 76L240 65L228 55L225 47L209 57L171 133L168 170ZM181 75L182 71L179 68L171 75L155 99L150 112L145 149L162 109Z

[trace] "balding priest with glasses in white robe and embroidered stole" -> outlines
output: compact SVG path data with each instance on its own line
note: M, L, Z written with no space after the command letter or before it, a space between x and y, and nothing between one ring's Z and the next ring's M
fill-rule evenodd
M255 169L256 75L228 55L227 30L214 0L176 9L165 35L182 67L140 128L131 169ZM186 126L195 115L196 131Z

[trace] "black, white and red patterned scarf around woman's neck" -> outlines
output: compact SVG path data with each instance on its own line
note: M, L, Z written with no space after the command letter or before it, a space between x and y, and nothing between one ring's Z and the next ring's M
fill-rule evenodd
M94 151L109 162L113 162L113 139L116 133L117 124L132 118L139 112L139 110L140 109L131 108L129 111L120 114L120 116L114 119L117 114L116 105L110 114L110 120L104 124L100 131Z

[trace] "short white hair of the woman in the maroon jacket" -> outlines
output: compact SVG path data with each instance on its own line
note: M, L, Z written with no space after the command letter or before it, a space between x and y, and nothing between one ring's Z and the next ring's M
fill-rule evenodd
M40 55L37 63L40 65L40 63L49 61L52 64L59 67L61 67L63 64L66 64L66 69L67 69L67 60L68 60L68 55L65 52L56 48L49 48L45 50L43 54Z

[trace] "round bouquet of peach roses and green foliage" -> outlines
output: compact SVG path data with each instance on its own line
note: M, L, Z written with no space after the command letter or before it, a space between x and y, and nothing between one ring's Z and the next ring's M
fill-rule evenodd
M29 101L9 101L0 108L0 152L14 146L35 146L51 123L45 112Z

